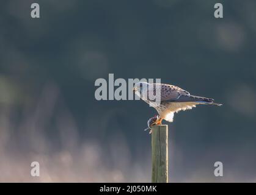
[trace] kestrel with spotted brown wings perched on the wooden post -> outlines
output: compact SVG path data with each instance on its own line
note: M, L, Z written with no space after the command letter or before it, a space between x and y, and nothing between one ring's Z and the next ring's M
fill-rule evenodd
M180 110L192 109L199 104L222 105L215 103L214 99L192 96L188 91L174 85L163 83L138 82L134 85L133 91L137 96L147 102L147 104L154 107L158 112L159 118L154 122L154 124L161 124L163 119L168 122L173 122L174 113L177 113ZM158 91L159 94L156 94ZM160 101L155 102L149 99L149 93L154 94L155 96L159 95ZM144 94L147 94L147 96Z

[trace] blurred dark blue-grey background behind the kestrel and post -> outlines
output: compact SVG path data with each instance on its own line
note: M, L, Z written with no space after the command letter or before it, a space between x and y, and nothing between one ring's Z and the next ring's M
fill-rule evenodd
M109 73L224 104L175 115L170 182L256 182L255 1L38 0L40 19L32 2L1 0L0 182L150 182L156 111L96 101Z

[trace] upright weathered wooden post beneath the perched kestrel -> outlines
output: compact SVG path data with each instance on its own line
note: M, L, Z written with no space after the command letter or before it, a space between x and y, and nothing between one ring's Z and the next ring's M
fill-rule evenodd
M168 126L152 126L152 183L168 182Z

